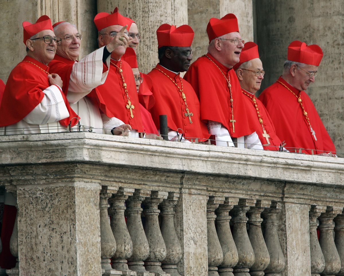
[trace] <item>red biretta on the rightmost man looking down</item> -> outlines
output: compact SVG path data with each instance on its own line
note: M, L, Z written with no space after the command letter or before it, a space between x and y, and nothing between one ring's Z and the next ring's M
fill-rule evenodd
M245 44L246 47L246 44ZM295 40L288 46L288 60L319 66L323 51L318 45L309 45Z

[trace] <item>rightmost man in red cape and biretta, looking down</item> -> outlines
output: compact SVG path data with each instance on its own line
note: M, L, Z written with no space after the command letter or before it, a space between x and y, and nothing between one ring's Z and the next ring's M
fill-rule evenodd
M275 125L276 133L285 139L286 148L304 153L329 155L334 144L310 97L304 92L315 81L323 52L318 45L293 41L288 46L288 60L283 75L259 96ZM330 153L332 152L332 153Z

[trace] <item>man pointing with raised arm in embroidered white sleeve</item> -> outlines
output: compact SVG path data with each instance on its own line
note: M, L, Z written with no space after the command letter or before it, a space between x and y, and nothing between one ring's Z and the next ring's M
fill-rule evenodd
M80 52L82 34L68 22L58 22L53 27L54 33L62 41L57 46L55 58L49 64L50 71L61 76L63 91L71 107L79 115L80 125L92 127L93 132L103 133L104 122L99 108L86 95L105 82L110 67L110 53L116 51L116 47L122 42L113 39L108 45L100 47L78 62L76 59ZM119 38L120 33L117 36ZM107 128L115 130L130 128L117 118L112 118L110 122L106 119L105 122ZM117 131L115 134L122 133Z

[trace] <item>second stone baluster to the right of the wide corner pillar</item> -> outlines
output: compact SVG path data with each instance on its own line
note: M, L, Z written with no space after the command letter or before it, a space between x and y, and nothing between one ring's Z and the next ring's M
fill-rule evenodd
M132 242L124 217L125 201L134 191L131 188L119 188L117 194L112 195L109 199L111 229L117 246L116 252L112 256L112 268L121 271L122 275L136 275L127 264L127 258L132 254Z

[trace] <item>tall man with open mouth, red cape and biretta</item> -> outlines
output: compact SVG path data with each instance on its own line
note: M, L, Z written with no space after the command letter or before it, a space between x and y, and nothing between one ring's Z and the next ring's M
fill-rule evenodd
M201 118L214 135L216 145L262 149L254 127L249 124L243 93L232 70L239 62L244 41L238 21L229 13L221 19L211 18L207 25L208 53L198 58L185 74L195 89L201 104Z

